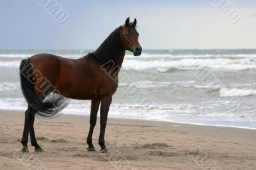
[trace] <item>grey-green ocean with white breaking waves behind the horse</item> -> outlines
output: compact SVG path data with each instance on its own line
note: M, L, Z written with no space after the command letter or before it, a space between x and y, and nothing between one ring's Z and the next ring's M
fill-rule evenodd
M0 109L27 108L21 59L42 52L76 59L92 51L0 51ZM111 118L256 129L256 50L127 52L120 75L125 77L113 96ZM90 100L69 102L63 114L90 115Z

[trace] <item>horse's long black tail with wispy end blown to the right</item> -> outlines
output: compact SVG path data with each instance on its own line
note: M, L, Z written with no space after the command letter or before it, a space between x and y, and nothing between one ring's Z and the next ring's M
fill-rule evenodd
M20 63L20 85L29 107L40 116L54 116L67 106L66 98L61 95L51 93L44 101L36 95L33 69L29 59L22 59Z

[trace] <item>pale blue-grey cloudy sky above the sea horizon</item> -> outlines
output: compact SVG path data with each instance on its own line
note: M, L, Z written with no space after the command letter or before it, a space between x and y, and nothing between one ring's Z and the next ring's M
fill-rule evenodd
M42 6L47 1L60 4L65 22ZM0 50L97 49L127 17L137 19L143 49L256 49L253 0L1 0Z

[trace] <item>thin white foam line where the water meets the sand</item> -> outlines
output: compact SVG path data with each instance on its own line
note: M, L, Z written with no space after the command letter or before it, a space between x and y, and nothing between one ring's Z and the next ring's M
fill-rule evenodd
M26 109L13 109L13 108L10 108L10 109L0 109L0 112L1 111L15 111L15 112L22 112L22 111L26 111ZM74 112L74 114L68 114L66 112L61 112L60 116L61 115L70 115L70 116L86 116L86 117L90 117L90 114L88 115L84 115L84 114L79 114L81 112ZM97 118L99 118L99 114L97 115ZM111 114L109 114L108 118L111 118L111 119L125 119L125 120L141 120L141 121L159 121L159 122L164 122L164 123L181 123L181 124L188 124L188 125L198 125L198 126L206 126L206 127L226 127L226 128L243 128L243 129L248 129L248 130L256 130L256 128L251 128L251 127L239 127L239 126L228 126L228 125L214 125L214 124L204 124L204 123L191 123L191 122L184 122L184 121L172 121L172 120L150 120L150 119L147 119L147 118L127 118L127 117L115 117L115 116L112 116L111 117ZM51 118L50 118L51 119Z

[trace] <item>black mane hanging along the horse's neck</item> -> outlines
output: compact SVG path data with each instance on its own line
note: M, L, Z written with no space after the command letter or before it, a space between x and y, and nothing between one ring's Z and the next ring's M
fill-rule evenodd
M113 31L104 42L98 47L95 52L92 52L91 56L96 59L101 64L105 64L108 61L113 61L115 65L118 65L118 58L121 54L121 38L120 29L122 26L118 27Z

